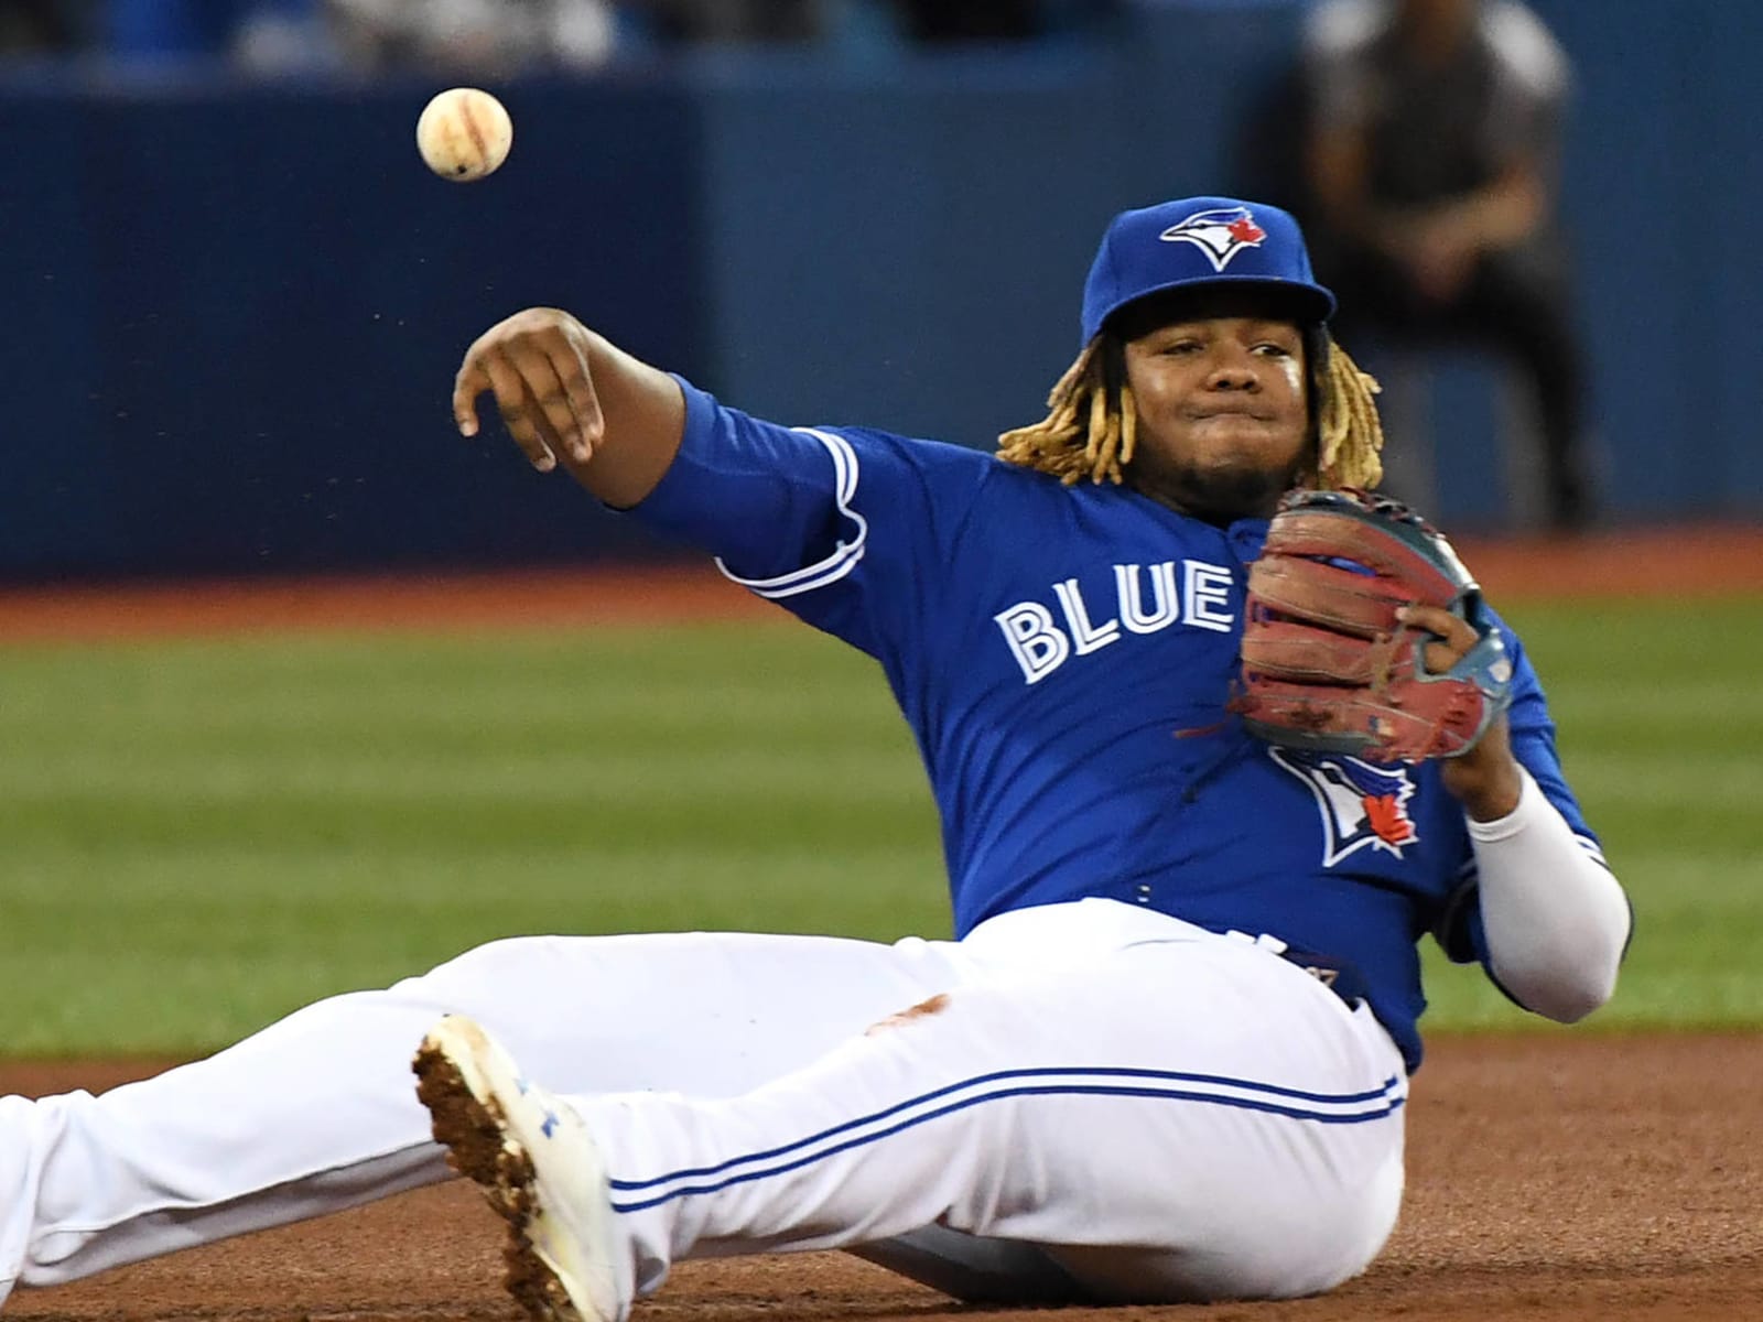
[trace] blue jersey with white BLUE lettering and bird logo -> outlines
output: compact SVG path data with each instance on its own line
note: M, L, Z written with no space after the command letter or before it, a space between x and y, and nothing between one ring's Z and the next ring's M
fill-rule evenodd
M1463 811L1433 763L1273 749L1229 714L1266 520L785 428L681 384L679 457L633 513L882 665L941 813L957 936L1086 895L1269 932L1356 966L1419 1063L1419 938L1486 964ZM1513 749L1596 855L1543 689L1497 626Z

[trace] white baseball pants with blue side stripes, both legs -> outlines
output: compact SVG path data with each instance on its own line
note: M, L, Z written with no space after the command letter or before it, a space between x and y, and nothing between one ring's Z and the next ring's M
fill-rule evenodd
M1395 1045L1246 938L1102 899L959 943L513 938L0 1098L0 1297L446 1177L409 1072L443 1014L587 1119L638 1294L852 1248L968 1299L1289 1297L1363 1271L1402 1197Z

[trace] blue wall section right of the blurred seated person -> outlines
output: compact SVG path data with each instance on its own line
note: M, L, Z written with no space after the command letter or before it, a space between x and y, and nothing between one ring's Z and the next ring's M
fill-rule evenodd
M1763 5L1534 0L1580 76L1566 194L1611 478L1763 513Z

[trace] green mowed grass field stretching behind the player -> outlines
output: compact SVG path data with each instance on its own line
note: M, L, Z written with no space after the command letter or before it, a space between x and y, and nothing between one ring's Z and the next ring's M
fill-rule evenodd
M1640 911L1592 1022L1763 1024L1763 599L1507 613ZM206 1051L515 932L948 924L880 673L802 628L33 645L0 694L5 1056Z

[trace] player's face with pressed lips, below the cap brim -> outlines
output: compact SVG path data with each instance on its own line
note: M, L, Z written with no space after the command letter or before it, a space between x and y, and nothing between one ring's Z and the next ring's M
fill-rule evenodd
M1188 316L1127 340L1127 479L1215 522L1271 515L1310 458L1305 340L1264 316Z

